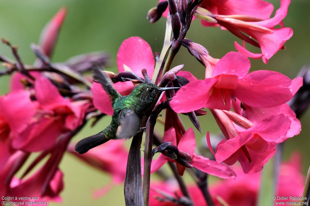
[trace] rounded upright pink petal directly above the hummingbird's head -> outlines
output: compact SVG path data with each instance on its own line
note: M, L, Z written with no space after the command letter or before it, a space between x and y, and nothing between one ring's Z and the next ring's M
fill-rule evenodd
M146 69L148 76L152 77L155 60L150 45L142 38L134 36L123 41L117 52L117 67L124 72L124 64L136 75L143 77L142 69Z

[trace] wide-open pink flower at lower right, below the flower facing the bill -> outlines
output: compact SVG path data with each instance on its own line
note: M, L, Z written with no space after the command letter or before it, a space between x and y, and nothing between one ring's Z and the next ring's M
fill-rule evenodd
M215 159L228 165L240 162L245 173L255 173L263 169L263 165L274 155L277 142L286 136L291 121L283 114L269 116L247 129L233 126L226 114L214 110L215 118L227 141L222 140L216 148ZM219 123L220 122L220 123ZM243 126L243 125L242 125ZM207 143L210 145L207 135ZM210 147L209 147L210 148ZM211 152L212 149L211 149Z

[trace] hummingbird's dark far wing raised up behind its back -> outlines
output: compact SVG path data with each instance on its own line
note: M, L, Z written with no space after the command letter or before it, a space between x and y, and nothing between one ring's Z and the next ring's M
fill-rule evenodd
M122 95L120 95L120 93L118 93L116 89L114 89L110 77L105 73L103 73L102 71L100 71L99 67L95 66L93 68L93 72L94 72L93 79L102 85L102 88L111 97L112 101L114 101L118 97L122 97Z

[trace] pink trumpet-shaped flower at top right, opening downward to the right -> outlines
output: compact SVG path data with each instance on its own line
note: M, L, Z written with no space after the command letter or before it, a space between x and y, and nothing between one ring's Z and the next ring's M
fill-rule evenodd
M227 2L233 2L233 1L227 1ZM262 58L264 63L268 62L268 59L270 59L275 53L277 53L278 50L283 49L284 43L290 39L290 37L293 35L293 30L291 28L283 28L282 19L285 18L287 15L288 6L290 4L290 0L281 0L281 7L276 11L276 14L273 18L269 19L266 18L270 15L270 12L272 11L272 5L268 2L264 2L264 4L258 4L258 2L262 1L252 1L254 4L256 4L257 7L253 5L252 8L255 8L253 10L249 9L247 6L244 5L244 2L242 1L234 1L239 2L242 4L242 6L238 6L234 4L234 8L241 8L243 11L248 11L242 13L235 13L237 15L235 16L229 16L233 14L227 14L224 15L217 15L215 14L215 19L217 20L218 24L223 26L224 28L228 29L230 32L235 34L237 37L243 39L243 47L239 45L237 42L235 42L236 49L241 53L251 58ZM227 6L227 9L231 7ZM267 9L265 7L268 7ZM224 7L226 9L226 7ZM254 14L254 11L256 10L256 15ZM260 16L261 14L266 14L266 16ZM270 11L270 12L269 12ZM216 11L215 11L216 12ZM225 13L225 12L223 12ZM250 15L250 16L247 16ZM262 19L257 19L257 17ZM264 20L267 19L267 20ZM204 24L204 21L202 21ZM276 25L280 25L282 28L274 28ZM206 23L205 25L209 25L209 23ZM243 33L248 34L250 37L244 35ZM256 41L254 41L252 38L254 38ZM245 41L261 48L262 53L261 54L254 54L250 51L246 50L245 48Z

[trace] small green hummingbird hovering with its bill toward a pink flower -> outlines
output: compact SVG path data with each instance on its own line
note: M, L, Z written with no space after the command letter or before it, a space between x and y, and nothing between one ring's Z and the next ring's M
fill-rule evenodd
M95 67L93 72L93 79L102 85L112 100L113 115L111 123L103 131L86 137L75 145L74 150L79 154L84 154L110 139L129 139L136 135L143 130L142 117L153 104L156 95L165 90L179 89L179 87L161 88L154 84L141 83L135 86L129 95L122 96L114 89L112 80L107 74L98 67Z

